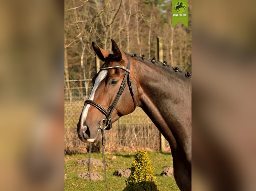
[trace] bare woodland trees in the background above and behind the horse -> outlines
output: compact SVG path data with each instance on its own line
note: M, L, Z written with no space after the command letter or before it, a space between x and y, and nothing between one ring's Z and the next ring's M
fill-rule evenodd
M111 53L110 39L114 39L125 52L152 58L157 57L158 36L164 42L163 59L172 67L191 72L190 4L186 28L180 23L171 26L170 0L66 0L66 79L83 80L85 83L73 84L84 86L82 94L88 96L92 84L87 80L96 74L92 41Z

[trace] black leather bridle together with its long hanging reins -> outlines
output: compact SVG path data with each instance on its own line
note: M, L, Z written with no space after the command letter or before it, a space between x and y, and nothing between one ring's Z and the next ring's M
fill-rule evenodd
M121 84L121 86L119 88L119 91L118 91L118 93L117 93L113 103L111 104L111 106L108 109L105 109L102 105L100 105L99 103L96 103L93 100L89 100L88 99L88 100L85 101L85 105L86 104L90 104L90 105L96 107L106 117L106 118L102 119L101 121L99 121L99 129L101 129L101 135L102 135L102 158L103 158L104 175L105 175L105 182L106 182L107 191L108 191L108 183L107 183L105 154L104 154L104 146L105 146L105 133L104 133L104 130L105 129L109 130L109 129L112 128L111 115L112 115L112 112L114 111L114 108L116 107L116 104L117 104L120 96L122 95L122 93L124 91L124 88L125 88L125 85L126 85L126 80L127 80L128 87L129 87L129 90L130 90L130 93L131 93L131 96L132 96L132 99L133 99L134 109L136 108L135 96L134 96L134 92L133 92L133 89L132 89L132 81L131 81L130 76L129 76L129 73L130 73L130 60L129 60L127 55L125 55L125 56L126 56L127 61L128 61L127 62L127 68L125 68L124 66L121 66L121 65L120 66L101 67L100 68L101 70L109 70L109 69L120 68L120 69L126 71L126 74L124 76L122 84ZM90 158L91 158L91 143L90 143L90 147L89 147L88 171L89 171L89 177L90 177L90 181L91 181L93 190L95 191L93 183L92 183L92 179L91 179Z

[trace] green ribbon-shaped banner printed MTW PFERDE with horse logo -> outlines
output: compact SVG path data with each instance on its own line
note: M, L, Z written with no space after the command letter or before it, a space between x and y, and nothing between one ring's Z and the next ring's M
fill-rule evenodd
M179 22L187 27L187 0L172 0L172 27Z

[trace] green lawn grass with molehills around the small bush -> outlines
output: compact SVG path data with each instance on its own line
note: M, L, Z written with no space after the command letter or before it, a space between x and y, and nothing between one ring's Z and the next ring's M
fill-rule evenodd
M152 165L156 169L155 176L159 190L179 191L174 177L160 176L165 166L172 166L171 154L169 152L148 153L152 161ZM133 152L112 152L105 154L109 191L122 191L125 188L125 180L127 178L113 176L113 173L120 168L130 168L133 154ZM91 157L102 161L101 153L92 153ZM65 180L65 191L93 190L90 180L77 177L77 174L88 171L88 166L79 166L76 164L78 160L83 158L88 158L88 154L75 154L72 156L65 156L65 174L67 176L67 179ZM104 177L103 167L91 166L91 171L96 171ZM105 179L93 181L93 184L95 190L106 190Z

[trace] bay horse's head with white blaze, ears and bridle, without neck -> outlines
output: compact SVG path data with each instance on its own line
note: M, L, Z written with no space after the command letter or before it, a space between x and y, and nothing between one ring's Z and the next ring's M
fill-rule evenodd
M78 137L83 142L94 142L100 128L109 130L112 122L133 112L136 107L136 89L132 88L129 76L130 60L116 42L111 41L113 54L92 43L95 53L104 64L93 78L93 89L77 124ZM126 83L129 88L125 88Z

